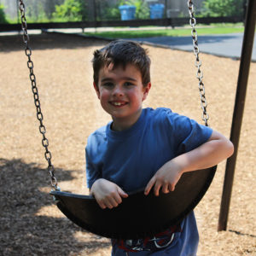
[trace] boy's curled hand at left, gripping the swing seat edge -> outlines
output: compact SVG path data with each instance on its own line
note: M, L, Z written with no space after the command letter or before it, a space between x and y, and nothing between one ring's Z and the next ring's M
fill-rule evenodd
M102 209L118 207L122 202L122 197L126 198L128 195L117 184L112 183L104 178L99 178L91 186L90 194L94 195L97 203Z

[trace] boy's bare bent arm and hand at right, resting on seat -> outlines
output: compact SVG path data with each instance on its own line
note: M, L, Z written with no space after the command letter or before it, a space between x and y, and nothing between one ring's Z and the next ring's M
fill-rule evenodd
M207 143L203 143L200 147L185 154L178 155L160 167L148 182L145 195L148 195L153 186L154 195L159 195L160 188L162 188L163 193L173 191L183 172L192 172L215 166L230 157L233 152L234 147L230 140L218 131L212 131L212 136Z

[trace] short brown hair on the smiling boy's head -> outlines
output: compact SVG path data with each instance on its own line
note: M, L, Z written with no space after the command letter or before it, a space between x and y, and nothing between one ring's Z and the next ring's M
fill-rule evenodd
M99 72L102 67L113 64L113 68L127 64L135 65L142 74L143 86L150 82L150 59L148 50L133 41L115 40L102 49L96 49L92 59L93 79L98 85Z

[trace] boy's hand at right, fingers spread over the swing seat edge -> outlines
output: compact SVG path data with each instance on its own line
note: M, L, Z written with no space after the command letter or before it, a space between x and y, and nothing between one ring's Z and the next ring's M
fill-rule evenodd
M148 195L149 191L154 186L154 195L158 196L160 188L163 193L169 193L175 189L179 178L182 176L182 168L175 161L169 161L164 166L155 172L154 176L150 179L144 191Z

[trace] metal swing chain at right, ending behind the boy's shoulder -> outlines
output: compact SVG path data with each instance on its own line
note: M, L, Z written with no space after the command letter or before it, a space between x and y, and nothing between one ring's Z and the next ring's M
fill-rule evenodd
M193 38L194 55L195 55L195 67L197 67L196 78L199 81L198 87L199 87L200 98L201 98L201 109L202 109L201 118L205 122L205 125L208 126L209 115L207 113L207 99L206 99L206 94L205 94L205 85L202 81L203 73L200 69L201 59L199 58L197 32L195 30L196 20L195 20L195 15L194 15L195 14L194 13L194 4L193 4L192 0L188 0L188 7L189 7L189 15L190 15L189 24L192 27L191 35L192 35L192 38Z

